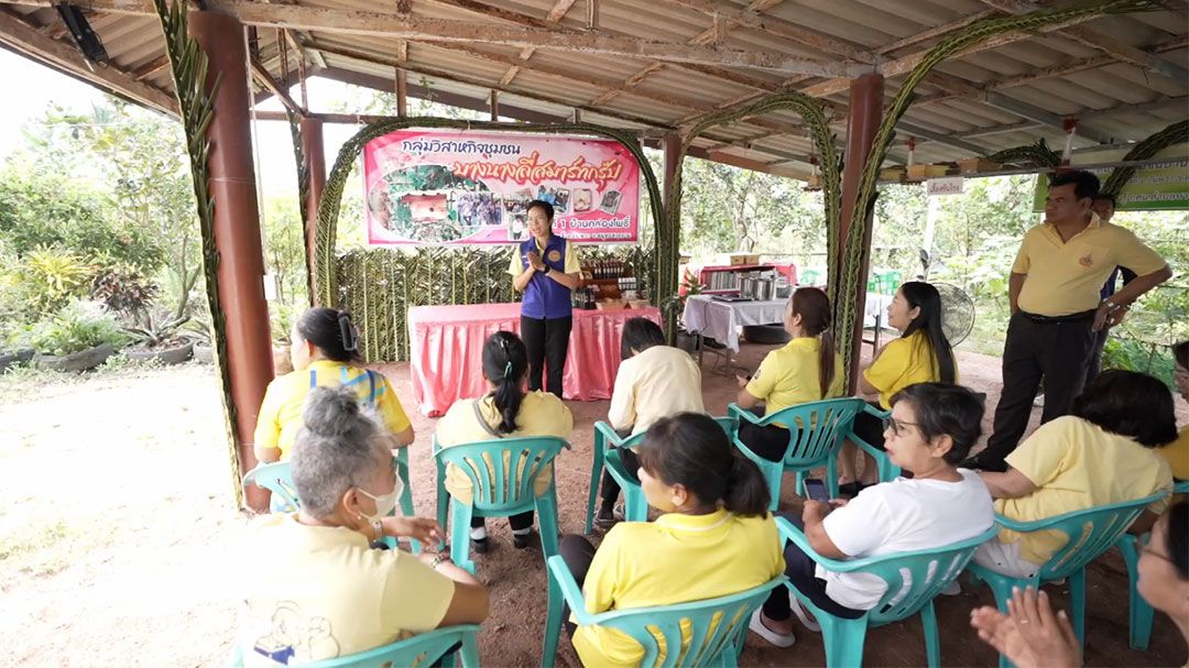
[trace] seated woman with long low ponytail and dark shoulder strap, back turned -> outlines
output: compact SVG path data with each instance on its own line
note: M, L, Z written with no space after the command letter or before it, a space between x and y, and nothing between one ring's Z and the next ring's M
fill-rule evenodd
M483 378L491 391L477 399L461 399L449 407L438 422L434 433L438 445L448 448L463 443L493 441L505 436L558 436L570 439L574 418L556 396L536 390L526 392L528 382L528 351L520 336L511 332L496 332L483 345ZM509 462L511 456L504 455ZM553 480L553 465L537 473L536 493L543 494ZM446 468L446 490L461 503L471 503L474 490L466 473L454 466ZM524 549L533 532L533 511L508 518L512 529L512 546ZM490 548L483 517L471 519L471 547L476 553Z

